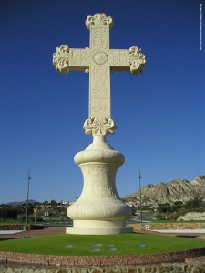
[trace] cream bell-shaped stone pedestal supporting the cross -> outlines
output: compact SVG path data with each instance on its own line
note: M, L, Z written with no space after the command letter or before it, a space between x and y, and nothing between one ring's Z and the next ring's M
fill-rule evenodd
M106 142L106 136L94 136L93 143L74 157L84 177L77 202L67 208L74 220L69 234L118 234L132 232L126 227L131 208L118 196L116 173L124 156Z

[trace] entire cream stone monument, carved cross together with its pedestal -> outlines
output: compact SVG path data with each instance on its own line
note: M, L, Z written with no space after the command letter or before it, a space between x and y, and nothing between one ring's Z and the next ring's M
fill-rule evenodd
M70 234L116 234L131 232L126 220L130 207L118 196L115 177L124 163L124 156L106 141L116 125L110 116L110 72L142 72L145 56L138 47L129 49L109 48L111 17L105 14L87 16L90 46L85 49L56 48L53 64L56 71L89 73L89 118L84 123L86 134L93 135L93 143L74 157L84 177L84 187L77 202L68 207L67 216L74 220L67 227ZM127 183L127 181L126 181Z

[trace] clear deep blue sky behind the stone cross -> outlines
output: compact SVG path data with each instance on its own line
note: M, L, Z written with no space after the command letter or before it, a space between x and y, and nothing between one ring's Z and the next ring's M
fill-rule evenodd
M89 44L87 15L112 16L110 48L136 45L144 72L111 75L108 143L122 152L121 197L142 186L205 175L205 42L200 50L196 0L0 2L0 203L26 199L73 200L83 187L74 155L91 143L88 74L55 72L56 46ZM204 22L204 15L203 15ZM203 32L204 33L204 32Z

